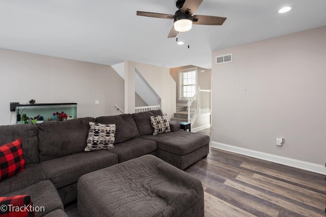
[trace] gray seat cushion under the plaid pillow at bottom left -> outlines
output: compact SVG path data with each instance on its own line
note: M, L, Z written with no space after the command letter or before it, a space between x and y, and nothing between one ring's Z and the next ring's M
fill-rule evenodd
M34 206L40 207L40 209L36 210L36 214L39 217L56 209L64 209L57 189L49 180L38 182L28 188L11 192L4 196L9 197L14 195L30 195Z

